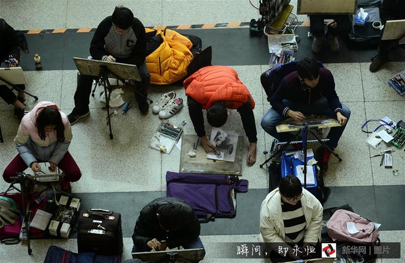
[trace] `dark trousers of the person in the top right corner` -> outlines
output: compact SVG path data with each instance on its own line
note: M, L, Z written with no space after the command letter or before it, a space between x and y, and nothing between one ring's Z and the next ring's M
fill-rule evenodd
M405 7L400 4L401 1L384 0L381 9L381 23L385 25L388 20L405 19ZM404 2L404 1L403 1ZM394 47L398 40L381 40L384 34L384 28L381 30L380 43L378 45L378 52L382 55L388 55L392 47Z

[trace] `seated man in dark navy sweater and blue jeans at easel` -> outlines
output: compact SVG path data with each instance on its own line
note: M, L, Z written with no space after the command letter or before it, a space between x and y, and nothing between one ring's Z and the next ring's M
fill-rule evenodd
M288 117L295 121L303 121L304 114L336 118L342 126L330 128L326 145L331 150L337 147L351 113L339 101L333 75L327 69L320 68L312 58L301 60L297 63L297 71L284 76L270 104L272 108L263 116L261 126L280 142L288 142L292 137L291 133L278 133L276 130L276 125ZM322 168L326 171L330 152L321 146L316 150L315 158L323 163Z

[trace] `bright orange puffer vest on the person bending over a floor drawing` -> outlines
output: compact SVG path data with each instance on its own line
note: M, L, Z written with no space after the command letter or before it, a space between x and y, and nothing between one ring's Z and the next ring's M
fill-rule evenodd
M230 67L208 66L183 81L186 95L209 109L215 102L228 102L228 109L238 109L247 101L254 109L249 90L243 85L238 73Z

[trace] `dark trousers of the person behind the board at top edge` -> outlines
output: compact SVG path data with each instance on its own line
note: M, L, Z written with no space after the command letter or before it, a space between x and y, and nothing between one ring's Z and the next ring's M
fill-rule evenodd
M315 37L324 36L324 20L333 19L336 23L336 27L328 26L327 34L334 37L346 36L352 30L350 16L348 15L310 15L310 31Z

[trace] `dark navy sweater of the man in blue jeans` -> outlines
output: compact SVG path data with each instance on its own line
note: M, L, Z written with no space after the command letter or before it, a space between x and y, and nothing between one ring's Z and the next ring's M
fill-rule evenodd
M335 81L327 69L319 69L319 82L314 88L303 90L296 71L284 76L280 86L270 99L271 106L280 114L288 116L289 108L283 100L295 103L312 104L322 96L326 97L330 109L337 113L342 111L342 104L335 91Z

